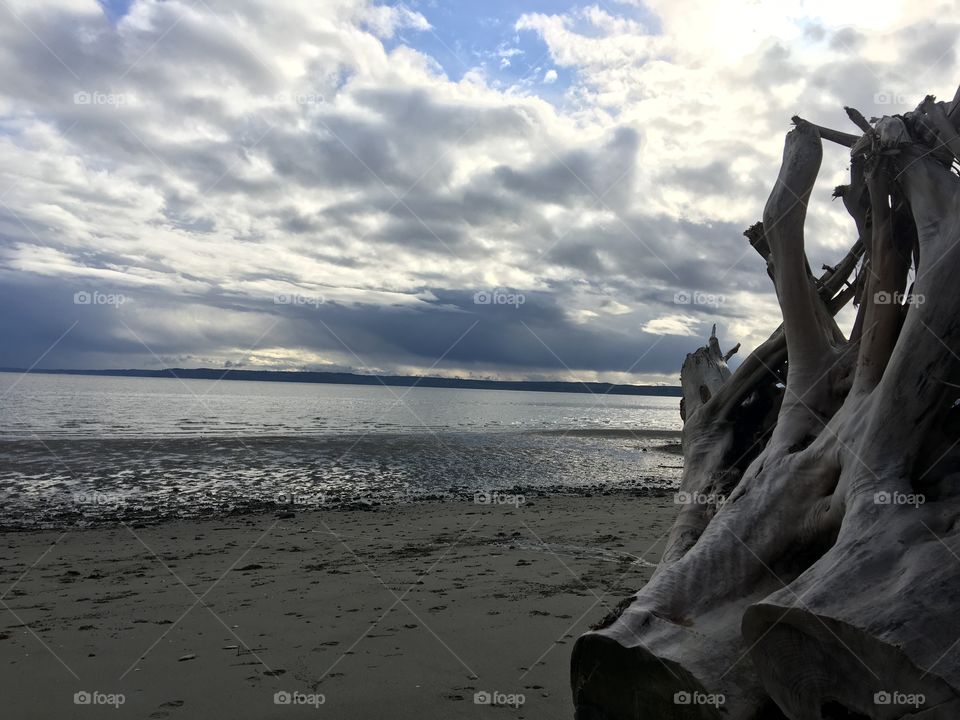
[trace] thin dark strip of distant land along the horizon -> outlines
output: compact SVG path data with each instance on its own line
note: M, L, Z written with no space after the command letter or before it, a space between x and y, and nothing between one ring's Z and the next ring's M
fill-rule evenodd
M167 368L164 370L27 370L0 368L5 373L31 375L93 375L100 377L171 378L181 380L234 380L246 382L300 382L332 385L386 385L455 390L517 390L526 392L593 393L596 395L650 395L682 397L675 385L618 385L604 382L560 382L550 380L468 380L408 375L358 375L355 373L293 370L217 370L214 368Z

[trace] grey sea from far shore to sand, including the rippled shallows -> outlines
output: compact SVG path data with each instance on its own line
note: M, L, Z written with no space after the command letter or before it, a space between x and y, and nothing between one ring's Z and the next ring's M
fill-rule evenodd
M678 402L0 373L0 527L670 488Z

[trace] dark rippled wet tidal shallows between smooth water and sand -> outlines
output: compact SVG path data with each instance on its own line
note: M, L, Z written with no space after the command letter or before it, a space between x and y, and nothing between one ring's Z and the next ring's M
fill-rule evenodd
M0 442L0 529L676 489L680 444L647 433Z

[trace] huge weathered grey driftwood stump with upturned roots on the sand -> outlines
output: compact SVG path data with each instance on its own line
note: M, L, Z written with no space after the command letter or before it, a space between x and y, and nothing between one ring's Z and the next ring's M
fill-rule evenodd
M684 362L682 504L574 647L579 720L960 718L960 90L848 115L861 134L794 118L746 233L783 324L734 373L715 332ZM822 139L851 148L857 240L814 277Z

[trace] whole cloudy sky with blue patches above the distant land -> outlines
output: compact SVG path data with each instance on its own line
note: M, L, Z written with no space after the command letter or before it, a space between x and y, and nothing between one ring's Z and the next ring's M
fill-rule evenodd
M676 383L779 324L790 118L952 97L958 5L0 0L0 367Z

